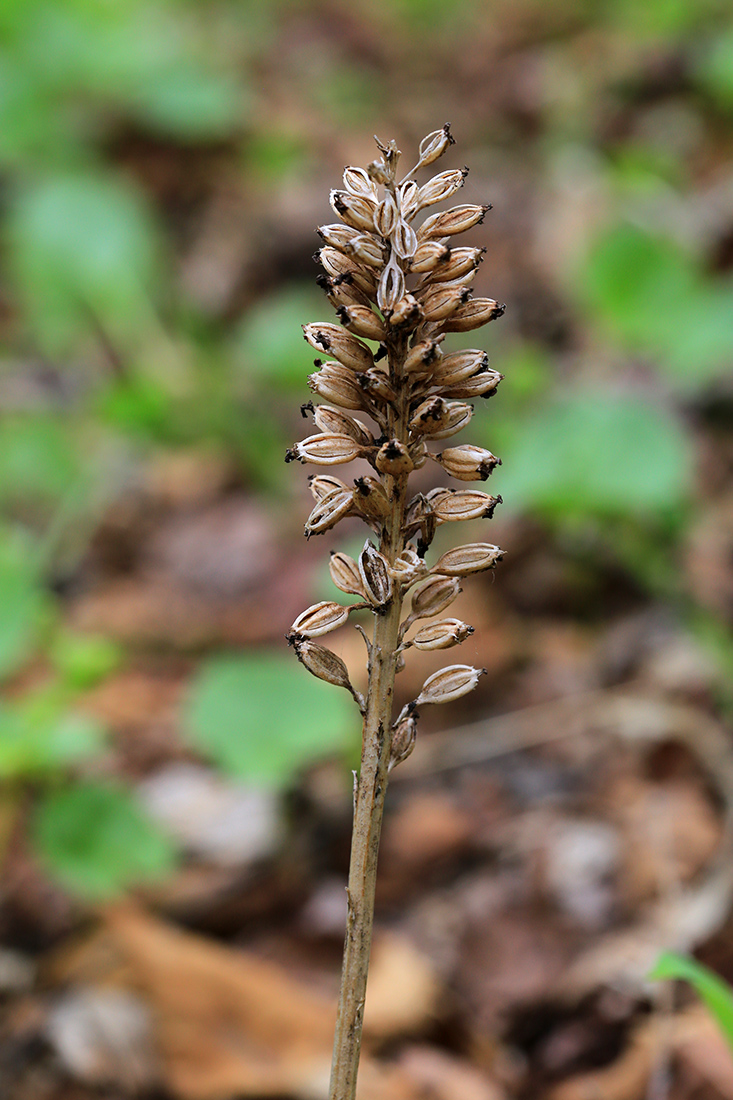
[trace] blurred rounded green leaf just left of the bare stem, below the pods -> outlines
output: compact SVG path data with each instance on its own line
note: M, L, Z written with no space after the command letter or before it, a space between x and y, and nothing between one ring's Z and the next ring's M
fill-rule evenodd
M304 765L343 750L353 713L346 692L294 658L221 657L200 670L186 725L196 747L229 774L280 787Z

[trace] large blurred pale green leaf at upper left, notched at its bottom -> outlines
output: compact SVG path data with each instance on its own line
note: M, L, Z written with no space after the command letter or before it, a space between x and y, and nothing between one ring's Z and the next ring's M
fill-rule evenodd
M68 350L96 324L116 340L150 322L155 228L125 183L42 179L17 196L9 219L20 294L47 348Z

